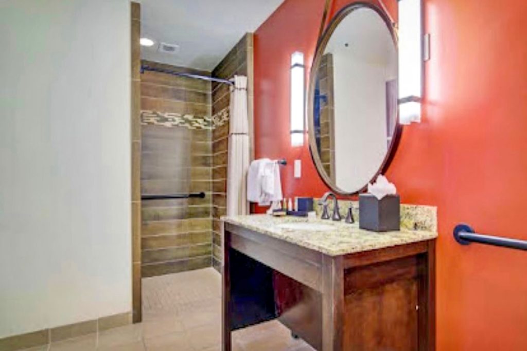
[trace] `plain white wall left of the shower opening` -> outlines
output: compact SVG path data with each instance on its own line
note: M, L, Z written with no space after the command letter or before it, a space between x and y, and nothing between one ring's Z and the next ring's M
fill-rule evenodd
M128 312L129 0L2 0L0 33L0 338Z

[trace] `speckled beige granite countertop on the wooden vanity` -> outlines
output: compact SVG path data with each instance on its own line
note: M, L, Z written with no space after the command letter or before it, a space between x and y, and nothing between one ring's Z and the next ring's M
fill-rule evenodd
M397 232L376 233L359 229L358 224L301 217L273 217L270 215L223 216L223 222L237 225L271 237L285 240L330 256L340 256L384 247L410 244L437 237L435 230L404 229ZM333 227L330 230L285 229L280 224L309 222Z

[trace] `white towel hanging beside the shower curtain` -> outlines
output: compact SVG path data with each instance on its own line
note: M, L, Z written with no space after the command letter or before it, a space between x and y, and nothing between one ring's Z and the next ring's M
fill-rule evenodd
M261 158L251 162L247 174L247 199L262 206L282 199L280 168L277 161Z

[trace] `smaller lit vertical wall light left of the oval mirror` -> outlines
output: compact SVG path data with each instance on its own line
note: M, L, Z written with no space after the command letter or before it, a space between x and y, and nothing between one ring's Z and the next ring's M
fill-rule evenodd
M291 55L291 146L304 145L304 54Z

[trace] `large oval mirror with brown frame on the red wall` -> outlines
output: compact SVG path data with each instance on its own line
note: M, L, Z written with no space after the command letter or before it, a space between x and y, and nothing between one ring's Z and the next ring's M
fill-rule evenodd
M399 135L397 41L384 12L352 4L331 21L311 67L311 155L340 194L365 188L388 166Z

